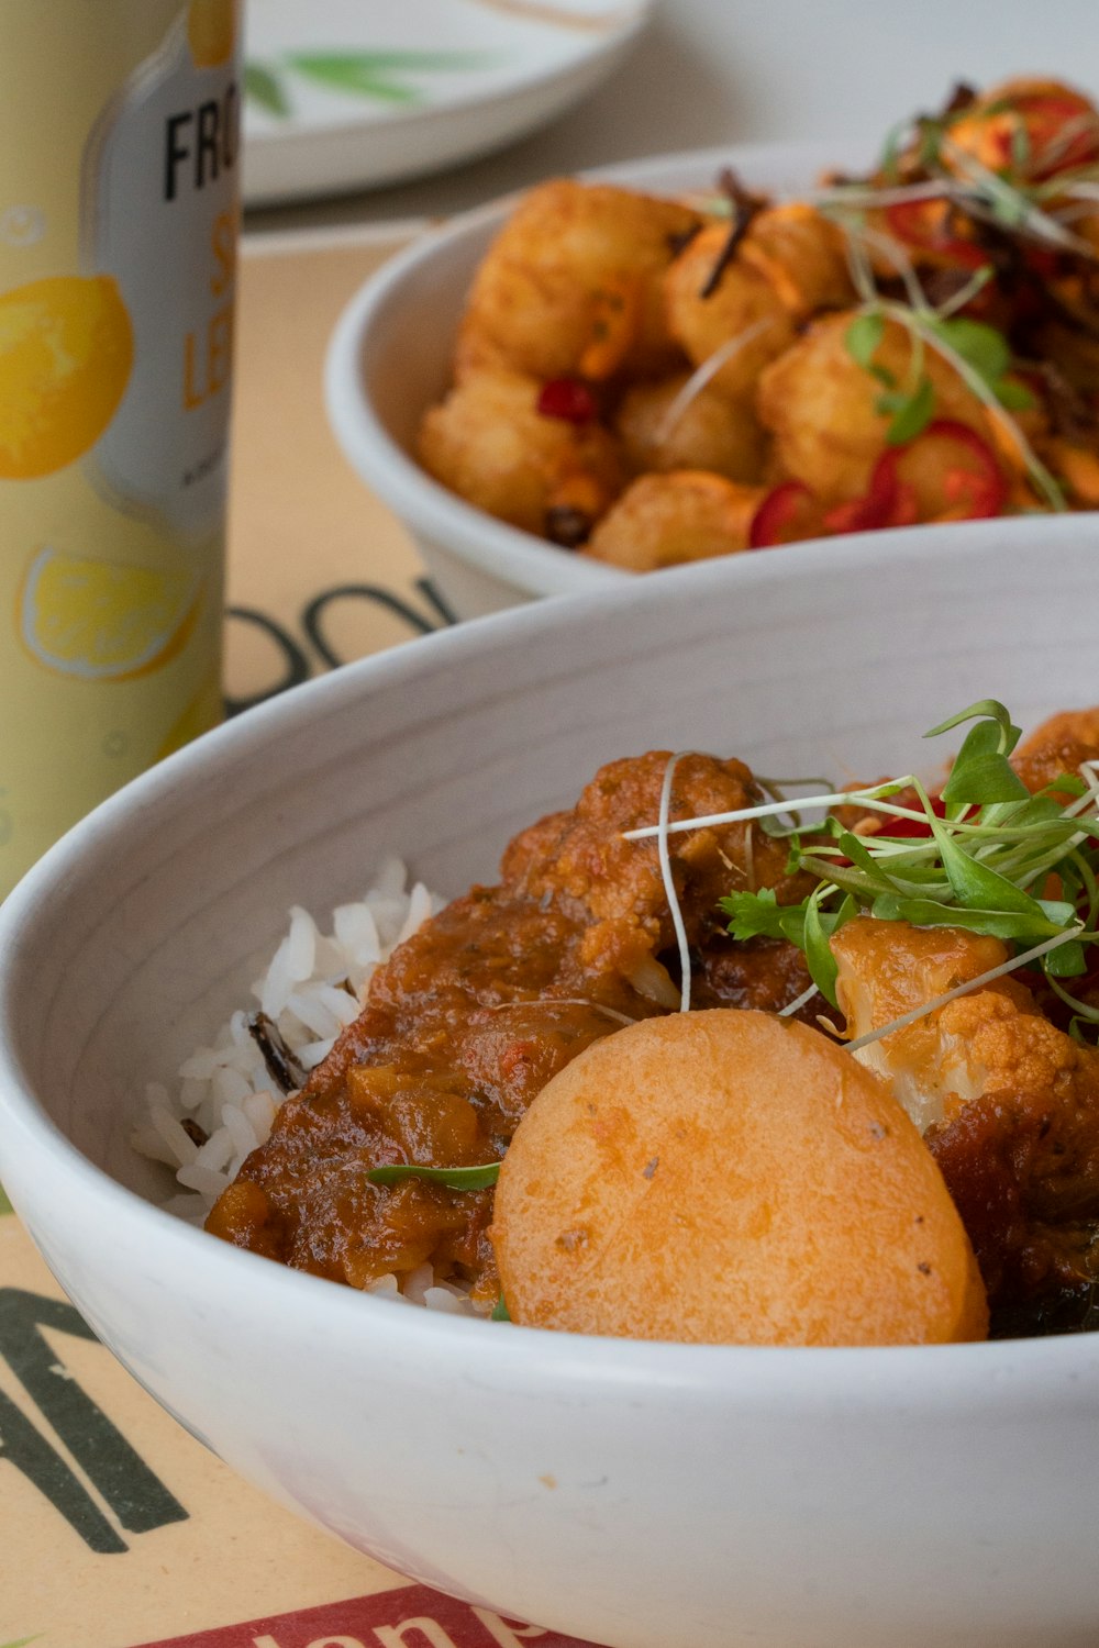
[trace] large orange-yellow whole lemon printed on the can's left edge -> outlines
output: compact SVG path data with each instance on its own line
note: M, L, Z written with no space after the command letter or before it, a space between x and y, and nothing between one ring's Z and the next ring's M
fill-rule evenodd
M0 293L0 478L53 475L92 447L133 366L109 275L54 275Z

